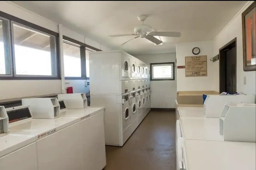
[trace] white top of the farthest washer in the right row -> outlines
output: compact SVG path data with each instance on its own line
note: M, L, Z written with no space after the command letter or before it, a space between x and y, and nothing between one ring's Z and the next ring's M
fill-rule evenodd
M203 107L178 107L179 116L182 117L195 117L204 118L205 109Z

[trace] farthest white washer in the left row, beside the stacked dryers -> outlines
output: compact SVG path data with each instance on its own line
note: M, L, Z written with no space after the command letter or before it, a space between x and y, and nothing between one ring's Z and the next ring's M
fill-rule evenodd
M65 101L59 100L59 103L61 106L64 106L60 111L61 117L78 117L81 120L77 124L80 126L82 136L83 169L102 170L106 166L104 134L105 108L66 109Z

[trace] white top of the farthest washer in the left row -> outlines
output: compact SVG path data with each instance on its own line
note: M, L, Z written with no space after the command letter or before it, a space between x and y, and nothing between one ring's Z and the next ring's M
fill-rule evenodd
M93 116L94 114L97 114L104 110L105 108L92 108L92 107L88 107L86 109L67 109L60 112L60 116L76 117L76 118L80 118L80 120L83 120L85 118Z

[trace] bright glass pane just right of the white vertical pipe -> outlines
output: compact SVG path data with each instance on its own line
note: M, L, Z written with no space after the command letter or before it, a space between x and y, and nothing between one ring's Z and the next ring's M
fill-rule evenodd
M63 43L64 75L65 77L81 77L80 47Z

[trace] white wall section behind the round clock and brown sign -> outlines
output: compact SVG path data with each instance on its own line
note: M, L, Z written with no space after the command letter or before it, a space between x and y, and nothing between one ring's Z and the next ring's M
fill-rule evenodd
M200 53L194 55L192 49L200 48ZM210 61L214 55L212 53L212 41L187 42L176 44L177 66L185 66L186 56L207 56L207 76L186 77L185 68L177 69L177 91L190 90L214 90L213 62Z

